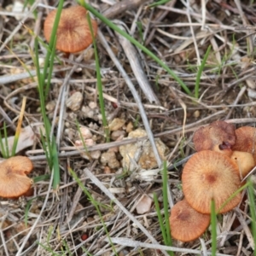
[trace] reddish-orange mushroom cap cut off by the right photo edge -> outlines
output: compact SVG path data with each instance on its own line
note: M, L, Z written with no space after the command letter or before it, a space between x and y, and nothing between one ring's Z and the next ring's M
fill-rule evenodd
M236 129L236 143L232 150L251 153L256 162L256 128L242 126Z

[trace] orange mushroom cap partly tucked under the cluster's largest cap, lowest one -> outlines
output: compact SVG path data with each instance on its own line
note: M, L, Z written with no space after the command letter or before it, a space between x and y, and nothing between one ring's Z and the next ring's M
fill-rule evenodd
M186 200L172 207L169 218L172 237L179 241L193 241L207 230L210 215L196 212Z

